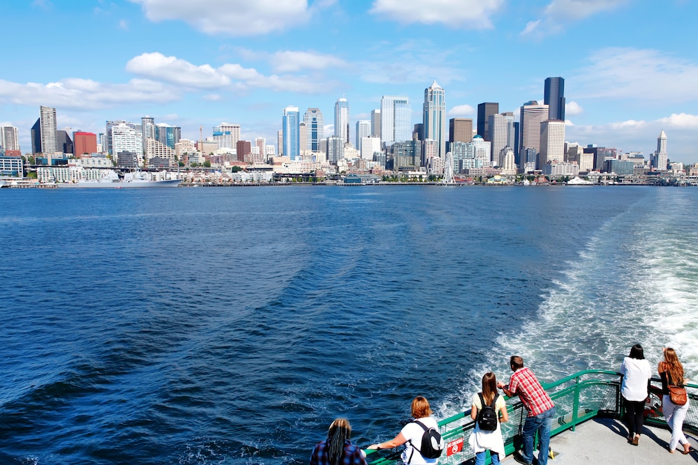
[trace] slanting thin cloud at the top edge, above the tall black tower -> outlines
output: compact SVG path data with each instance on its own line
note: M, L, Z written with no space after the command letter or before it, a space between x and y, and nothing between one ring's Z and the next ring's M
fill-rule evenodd
M570 21L584 20L587 17L615 10L629 0L552 0L545 7L540 20L529 21L521 31L521 36L541 38L563 30Z

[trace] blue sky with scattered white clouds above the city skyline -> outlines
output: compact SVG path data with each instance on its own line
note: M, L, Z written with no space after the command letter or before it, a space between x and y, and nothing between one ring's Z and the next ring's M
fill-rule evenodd
M355 122L382 96L445 90L448 118L514 112L565 78L568 142L698 162L694 0L34 0L3 5L0 123L22 152L39 106L59 129L105 121L222 122L276 144L283 109L318 107L325 137L346 97Z

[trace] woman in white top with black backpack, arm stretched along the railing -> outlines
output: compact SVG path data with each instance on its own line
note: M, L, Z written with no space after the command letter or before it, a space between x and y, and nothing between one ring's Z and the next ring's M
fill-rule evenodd
M407 443L407 447L402 452L403 464L410 465L433 465L438 463L438 459L428 459L422 457L419 447L422 445L422 436L425 429L434 428L438 431L438 424L431 416L429 401L418 395L412 401L412 418L414 421L405 425L399 434L385 443L369 445L369 449L389 449ZM421 423L420 426L419 424ZM415 446L416 445L416 446Z

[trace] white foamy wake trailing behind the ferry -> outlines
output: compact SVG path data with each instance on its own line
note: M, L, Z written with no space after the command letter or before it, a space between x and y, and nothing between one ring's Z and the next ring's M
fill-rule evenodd
M537 318L517 334L500 336L489 363L470 372L473 381L461 389L460 403L479 390L474 381L484 372L507 381L510 355L523 357L540 381L550 382L583 369L616 370L636 343L655 369L662 347L672 346L695 379L698 220L675 200L671 192L658 195L652 206L610 218L570 259L564 279L544 291ZM443 416L469 408L456 403L446 400Z

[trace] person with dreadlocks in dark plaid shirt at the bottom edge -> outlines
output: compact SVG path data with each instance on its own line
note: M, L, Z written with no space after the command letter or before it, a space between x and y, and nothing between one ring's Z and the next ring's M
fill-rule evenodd
M353 445L351 425L346 418L337 418L329 425L327 439L315 444L310 465L366 465L364 452Z

